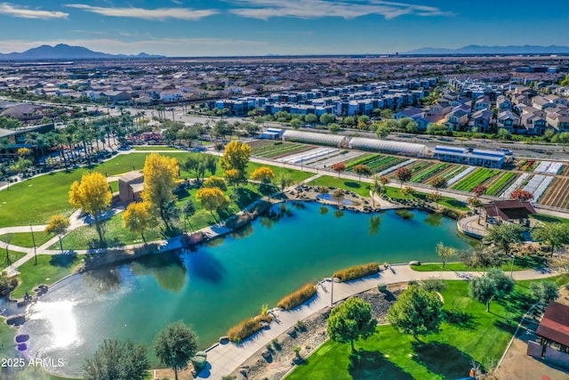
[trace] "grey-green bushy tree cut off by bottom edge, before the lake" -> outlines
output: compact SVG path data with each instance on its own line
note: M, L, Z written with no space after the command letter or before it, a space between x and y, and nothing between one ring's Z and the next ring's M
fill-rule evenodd
M105 339L83 366L85 380L143 380L148 369L145 345L110 339Z

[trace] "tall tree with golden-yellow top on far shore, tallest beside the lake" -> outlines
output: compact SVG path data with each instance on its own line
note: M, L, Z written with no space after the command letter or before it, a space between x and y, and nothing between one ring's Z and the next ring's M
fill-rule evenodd
M169 158L152 153L144 163L144 190L142 200L148 202L153 213L160 215L166 231L171 230L168 206L174 200L180 166L176 158Z

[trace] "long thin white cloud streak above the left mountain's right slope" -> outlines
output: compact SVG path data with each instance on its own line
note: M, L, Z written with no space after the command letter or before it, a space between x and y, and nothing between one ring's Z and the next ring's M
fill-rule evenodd
M132 19L144 20L200 20L204 17L212 16L218 13L214 9L191 9L191 8L105 8L101 6L92 6L86 4L65 4L70 8L84 10L85 12L97 13L108 17L129 17Z

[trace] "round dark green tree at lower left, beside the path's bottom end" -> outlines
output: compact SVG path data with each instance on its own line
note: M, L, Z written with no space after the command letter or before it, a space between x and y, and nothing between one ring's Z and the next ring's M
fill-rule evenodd
M164 366L174 370L178 380L178 371L188 368L188 361L196 355L197 336L183 322L171 323L156 336L154 351Z

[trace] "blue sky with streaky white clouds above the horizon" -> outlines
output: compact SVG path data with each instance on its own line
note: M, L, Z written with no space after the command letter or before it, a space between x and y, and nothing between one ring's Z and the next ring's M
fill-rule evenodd
M168 56L569 44L566 0L0 0L0 52L77 44Z

